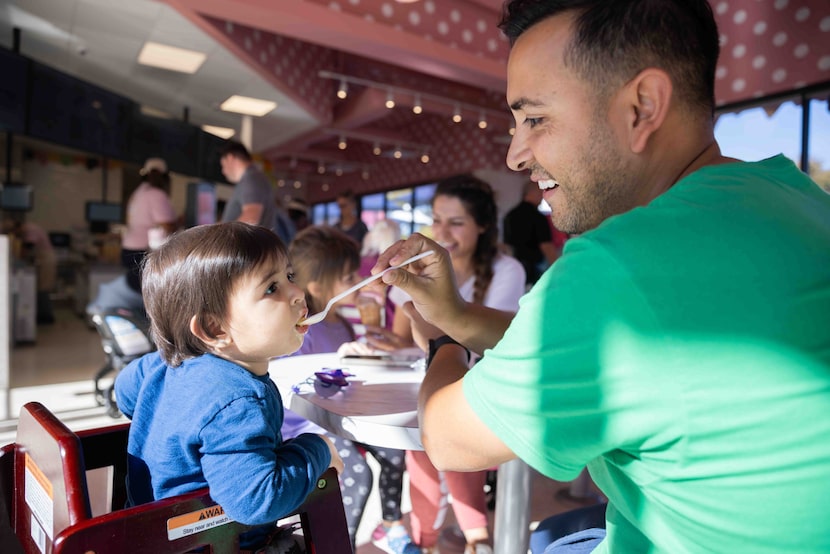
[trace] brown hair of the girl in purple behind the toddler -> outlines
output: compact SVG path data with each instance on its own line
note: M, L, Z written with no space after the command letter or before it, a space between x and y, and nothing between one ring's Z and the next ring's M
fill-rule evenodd
M310 313L317 313L325 307L326 301L314 299L308 292L312 281L331 290L344 274L357 271L360 267L358 245L349 235L323 225L306 227L294 237L289 247L294 282L306 292L306 304Z

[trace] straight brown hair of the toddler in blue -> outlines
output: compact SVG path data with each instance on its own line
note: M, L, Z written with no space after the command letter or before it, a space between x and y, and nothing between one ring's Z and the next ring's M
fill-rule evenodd
M208 352L190 332L196 316L212 333L227 316L240 277L261 264L288 262L282 241L269 229L237 221L200 225L174 233L144 259L142 294L150 333L172 367Z

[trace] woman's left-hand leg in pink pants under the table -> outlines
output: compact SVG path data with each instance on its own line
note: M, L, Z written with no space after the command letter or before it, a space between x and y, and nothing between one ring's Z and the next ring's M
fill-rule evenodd
M426 452L408 451L406 470L409 472L409 496L412 500L412 538L419 546L431 548L438 542L438 534L447 515L446 483Z

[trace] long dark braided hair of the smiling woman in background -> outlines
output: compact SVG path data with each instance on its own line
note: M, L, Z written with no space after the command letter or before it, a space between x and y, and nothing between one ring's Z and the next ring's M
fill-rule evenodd
M464 205L464 209L475 220L476 225L484 229L484 232L478 236L473 253L476 279L473 286L473 302L481 304L490 287L490 281L493 280L493 260L498 254L499 230L496 227L498 207L493 189L472 175L457 175L438 183L432 197L433 202L438 196L458 198Z

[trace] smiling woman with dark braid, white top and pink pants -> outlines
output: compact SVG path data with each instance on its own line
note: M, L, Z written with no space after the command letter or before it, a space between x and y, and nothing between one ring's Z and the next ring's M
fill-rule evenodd
M515 258L497 247L497 208L490 185L471 175L438 183L432 199L432 233L452 257L461 296L504 311L516 311L525 291L525 271ZM390 299L400 306L409 300L400 289ZM411 340L412 329L403 310L395 311L392 330ZM480 355L481 353L479 353ZM472 363L477 359L473 355ZM412 499L412 535L425 551L438 540L449 492L453 511L467 541L465 552L491 553L484 496L486 472L439 472L424 452L407 453Z

